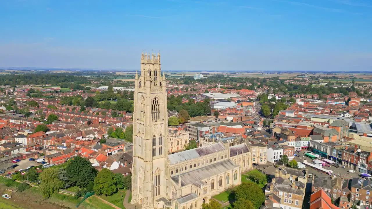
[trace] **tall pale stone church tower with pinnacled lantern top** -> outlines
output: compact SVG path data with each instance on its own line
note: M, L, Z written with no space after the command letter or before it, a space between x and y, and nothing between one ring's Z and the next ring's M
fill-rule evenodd
M160 69L160 54L142 53L141 75L134 79L131 203L151 209L167 196L167 93Z

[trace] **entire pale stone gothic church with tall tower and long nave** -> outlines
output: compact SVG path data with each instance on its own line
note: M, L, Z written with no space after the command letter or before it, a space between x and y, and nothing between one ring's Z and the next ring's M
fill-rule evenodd
M169 154L165 74L160 54L141 56L135 75L132 204L143 209L199 209L202 203L241 183L252 167L246 144L222 142Z

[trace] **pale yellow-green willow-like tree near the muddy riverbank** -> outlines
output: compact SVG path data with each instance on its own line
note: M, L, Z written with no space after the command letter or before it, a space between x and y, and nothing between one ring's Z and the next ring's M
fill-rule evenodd
M63 187L63 181L58 179L58 170L56 169L45 169L41 172L39 179L41 181L39 190L44 199L48 199L52 194L58 193Z

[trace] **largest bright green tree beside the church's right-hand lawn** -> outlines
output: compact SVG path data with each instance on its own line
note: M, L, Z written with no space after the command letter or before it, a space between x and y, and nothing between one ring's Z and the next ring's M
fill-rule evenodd
M254 208L258 209L265 201L265 194L262 189L253 182L242 183L234 191L237 199L245 199L253 203Z

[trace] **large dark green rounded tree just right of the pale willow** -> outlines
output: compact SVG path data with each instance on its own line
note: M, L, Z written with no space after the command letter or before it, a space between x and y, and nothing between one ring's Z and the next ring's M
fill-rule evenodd
M97 170L92 167L92 163L88 160L77 156L67 165L66 176L71 182L71 186L76 185L85 188L89 181L93 181L97 176Z

